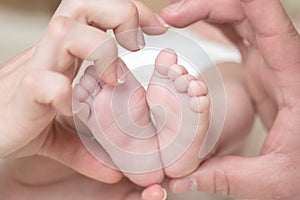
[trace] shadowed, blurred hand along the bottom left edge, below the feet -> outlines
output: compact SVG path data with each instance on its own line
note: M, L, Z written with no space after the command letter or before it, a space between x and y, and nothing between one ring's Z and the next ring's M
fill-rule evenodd
M41 156L2 160L0 174L1 199L161 200L164 195L153 193L151 198L142 198L141 188L126 179L116 184L101 183Z

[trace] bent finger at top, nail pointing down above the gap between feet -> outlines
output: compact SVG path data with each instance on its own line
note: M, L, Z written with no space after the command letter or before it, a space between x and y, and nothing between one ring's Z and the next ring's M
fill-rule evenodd
M117 38L120 44L132 51L143 46L143 35L137 30L138 11L129 0L64 0L54 16L66 16L102 30L114 29L116 34L129 31L126 40Z

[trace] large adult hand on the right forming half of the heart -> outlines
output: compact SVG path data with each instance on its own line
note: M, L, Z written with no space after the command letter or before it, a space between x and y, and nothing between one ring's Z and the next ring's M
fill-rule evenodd
M161 16L184 27L206 20L240 48L246 82L269 129L261 155L214 157L174 192L201 190L246 199L299 199L300 37L278 0L173 1Z

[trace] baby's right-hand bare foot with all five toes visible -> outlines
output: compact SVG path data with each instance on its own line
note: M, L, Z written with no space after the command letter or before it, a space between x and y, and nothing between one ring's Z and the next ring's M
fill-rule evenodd
M176 63L174 52L162 51L147 90L165 174L172 178L198 168L200 147L209 125L205 83Z

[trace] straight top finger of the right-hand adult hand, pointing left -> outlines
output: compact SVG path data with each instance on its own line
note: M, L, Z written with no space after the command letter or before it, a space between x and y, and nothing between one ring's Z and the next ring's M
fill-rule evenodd
M245 18L240 0L184 0L164 8L161 16L175 27L185 27L198 20L230 23Z

